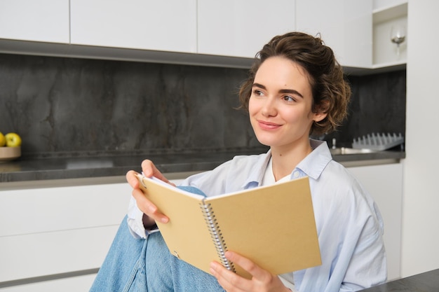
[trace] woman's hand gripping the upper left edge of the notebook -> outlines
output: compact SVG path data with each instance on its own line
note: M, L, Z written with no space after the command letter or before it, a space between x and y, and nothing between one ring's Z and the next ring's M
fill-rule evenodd
M169 183L170 185L175 186L174 183L171 183L166 179L161 172L158 171L154 163L151 160L143 160L142 162L142 172L144 176L151 177L155 176L157 179L161 179L162 181ZM140 211L144 213L143 224L145 228L151 227L159 221L161 223L168 223L169 218L162 214L156 205L154 205L147 197L144 196L144 193L139 188L139 180L137 179L137 172L130 170L126 174L126 180L133 188L133 197L137 203L137 207L139 207Z

